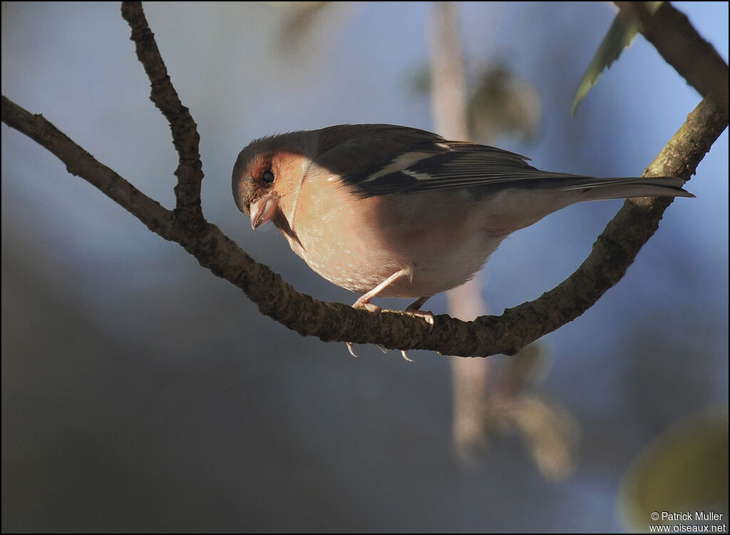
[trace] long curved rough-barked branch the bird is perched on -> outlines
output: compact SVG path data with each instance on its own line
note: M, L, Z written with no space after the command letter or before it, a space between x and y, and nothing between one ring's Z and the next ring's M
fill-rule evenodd
M153 42L152 32L145 32L140 40ZM166 75L164 80L153 78L153 91L154 86L166 83ZM262 314L301 335L315 335L323 341L380 344L389 349L430 349L457 356L514 354L583 314L616 284L656 231L669 205L666 200L647 198L626 201L593 244L591 255L558 287L537 300L507 309L502 316L481 316L474 322L437 316L436 325L429 333L426 322L404 313L384 311L378 318L342 303L323 303L296 292L268 267L251 259L218 227L205 221L201 213L191 227L190 219L180 218L180 205L188 206L184 203L191 200L189 192L193 191L187 189L188 178L179 177L180 187L176 189L179 208L171 212L97 162L42 115L28 113L5 96L2 97L2 121L54 153L69 172L99 188L150 230L180 243L201 266L242 289ZM688 179L727 124L726 109L714 99L703 99L645 175ZM177 137L177 127L171 127L175 129L174 139L182 139ZM187 159L185 155L189 153L183 151L181 159ZM193 188L199 188L201 178L201 173L189 178L191 183L197 181ZM193 209L192 213L195 212Z

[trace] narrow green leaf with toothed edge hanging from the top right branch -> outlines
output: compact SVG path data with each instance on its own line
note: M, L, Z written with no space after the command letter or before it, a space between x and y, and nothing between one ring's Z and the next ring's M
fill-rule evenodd
M661 1L648 1L642 2L642 5L648 12L654 14L663 3ZM593 56L593 61L588 65L583 79L578 84L575 97L573 97L573 105L570 108L571 115L575 115L580 101L596 84L603 69L608 69L618 59L618 56L621 56L623 49L629 48L638 31L639 21L635 17L629 18L625 13L616 15L606 37L604 37L603 42L596 51L596 56Z

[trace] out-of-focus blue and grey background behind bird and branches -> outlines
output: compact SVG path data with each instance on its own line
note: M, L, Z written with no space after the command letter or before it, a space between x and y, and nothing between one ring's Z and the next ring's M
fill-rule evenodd
M727 61L728 4L675 6ZM250 230L231 168L265 134L434 129L434 5L145 12L199 126L207 219L299 291L351 303L278 232ZM700 97L639 36L571 118L613 16L603 3L460 4L470 117L519 102L524 118L473 131L541 169L639 175ZM177 155L129 33L118 4L4 2L2 93L172 208ZM681 499L726 511L727 184L724 132L686 186L697 198L666 210L623 280L520 361L518 404L532 409L493 418L465 465L447 357L407 363L358 346L354 359L345 344L301 338L3 125L2 530L631 531L650 523L626 504L656 482L637 468L656 452L664 468L710 463L692 473L715 479L696 487L719 478L724 495ZM480 273L489 310L563 281L620 207L575 205L512 235ZM445 297L429 306L445 312ZM509 357L491 362L492 378L520 376ZM718 456L696 444L720 444ZM664 483L688 487L683 477ZM672 499L667 510L685 503Z

